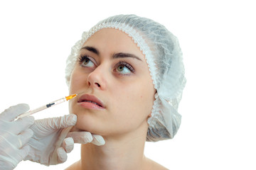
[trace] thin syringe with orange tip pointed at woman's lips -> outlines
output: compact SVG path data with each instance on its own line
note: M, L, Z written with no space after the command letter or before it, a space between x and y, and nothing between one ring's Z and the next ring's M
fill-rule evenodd
M57 101L50 102L50 103L48 103L48 104L46 104L44 106L41 106L40 108L36 108L36 109L34 109L32 111L27 111L26 113L23 113L22 115L19 115L16 118L16 120L19 119L19 118L24 118L24 117L26 117L28 115L32 115L33 113L37 113L38 111L43 111L46 108L50 108L51 106L56 106L56 105L58 105L60 103L63 103L65 101L69 101L70 99L75 98L76 96L78 96L78 94L72 94L72 95L67 96L65 98L60 98Z

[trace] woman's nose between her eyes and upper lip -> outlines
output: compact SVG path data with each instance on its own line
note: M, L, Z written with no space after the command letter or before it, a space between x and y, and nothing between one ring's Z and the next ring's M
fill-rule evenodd
M87 77L87 85L95 89L106 89L106 77L102 67L97 67Z

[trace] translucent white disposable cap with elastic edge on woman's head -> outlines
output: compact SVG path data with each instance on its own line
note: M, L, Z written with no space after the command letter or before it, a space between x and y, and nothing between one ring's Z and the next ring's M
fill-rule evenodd
M146 57L157 91L151 117L148 119L146 140L156 142L173 138L181 124L178 103L186 78L178 39L155 21L135 15L112 16L84 32L82 40L72 47L66 62L65 78L68 86L80 48L90 36L102 28L115 28L127 33Z

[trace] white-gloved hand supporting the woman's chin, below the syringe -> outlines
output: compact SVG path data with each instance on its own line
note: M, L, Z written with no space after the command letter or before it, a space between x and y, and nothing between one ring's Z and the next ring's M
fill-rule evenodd
M31 151L24 160L47 166L60 164L67 160L67 153L73 150L74 142L105 144L105 140L100 135L92 135L90 132L70 132L76 121L77 116L74 114L36 120L31 126L33 137L28 142Z

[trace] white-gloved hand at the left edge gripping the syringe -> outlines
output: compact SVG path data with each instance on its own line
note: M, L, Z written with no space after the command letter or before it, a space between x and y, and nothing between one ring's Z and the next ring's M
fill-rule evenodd
M26 144L33 131L28 129L33 123L32 116L14 119L29 110L27 104L18 104L7 108L0 114L0 168L14 169L30 151Z

